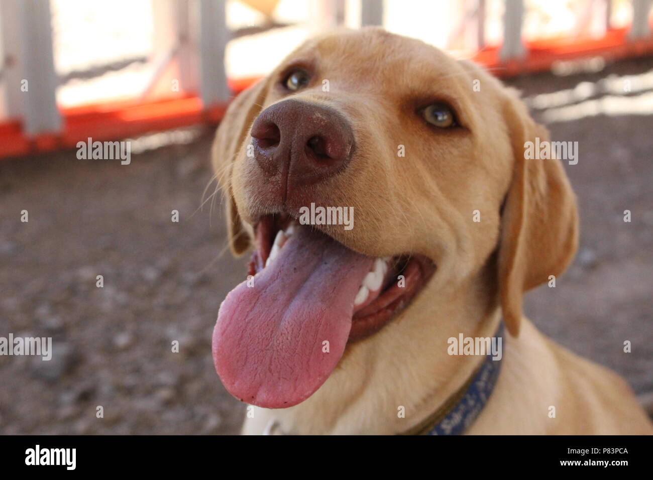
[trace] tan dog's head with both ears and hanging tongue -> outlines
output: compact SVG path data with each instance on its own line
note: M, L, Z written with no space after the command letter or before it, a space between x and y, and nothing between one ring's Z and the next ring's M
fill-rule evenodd
M517 335L522 294L577 243L560 161L524 159L536 137L547 132L498 80L376 28L310 40L236 97L213 161L232 251L254 253L215 328L227 389L297 404L347 342L400 312L413 321L421 290L488 269Z

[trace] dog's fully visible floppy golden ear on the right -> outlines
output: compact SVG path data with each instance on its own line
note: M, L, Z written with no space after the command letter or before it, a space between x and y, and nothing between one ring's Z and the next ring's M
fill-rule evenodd
M559 159L526 159L526 142L549 141L513 91L504 116L515 156L503 205L498 283L503 320L517 336L522 295L564 272L578 247L576 198ZM530 155L529 155L530 156Z

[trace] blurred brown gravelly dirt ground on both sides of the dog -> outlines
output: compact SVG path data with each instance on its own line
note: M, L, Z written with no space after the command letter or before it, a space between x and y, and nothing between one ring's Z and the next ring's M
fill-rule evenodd
M508 83L531 97L652 69L653 59L633 60ZM554 139L579 142L578 165L565 168L581 248L555 289L526 297L526 313L635 391L653 391L653 121L599 115L549 127ZM205 130L191 144L133 155L130 165L78 160L74 151L0 160L0 336L54 339L50 362L0 356L0 433L238 432L244 406L221 386L210 339L246 261L226 251L219 205L199 209L210 142Z

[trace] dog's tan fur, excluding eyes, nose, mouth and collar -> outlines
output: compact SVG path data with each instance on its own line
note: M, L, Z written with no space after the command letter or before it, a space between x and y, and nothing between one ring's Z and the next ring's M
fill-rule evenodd
M253 223L268 213L246 155L249 128L263 108L287 97L278 84L293 65L314 72L313 83L294 95L335 108L355 131L350 165L315 190L318 204L353 206L355 228L325 231L375 257L426 255L437 270L389 325L347 347L308 400L255 408L244 433L260 434L270 419L295 434L403 432L443 404L481 360L447 355L447 338L492 336L502 317L511 333L502 372L468 433L651 433L620 377L554 344L522 317L524 291L562 273L573 258L575 197L560 161L524 159L524 142L545 140L545 129L514 91L469 62L377 28L330 33L298 48L236 98L216 136L213 162L227 197L232 251L247 249ZM481 91L473 91L475 79ZM434 131L415 113L437 100L454 106L462 129ZM399 145L405 157L398 157ZM398 418L400 406L406 418Z

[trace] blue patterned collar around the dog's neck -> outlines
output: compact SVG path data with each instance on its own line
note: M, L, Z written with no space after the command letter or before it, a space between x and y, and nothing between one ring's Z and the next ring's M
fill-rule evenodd
M503 322L494 334L503 338ZM505 342L502 341L502 348ZM503 355L502 355L503 358ZM445 404L404 435L460 435L477 419L494 390L502 360L486 355L478 370Z

